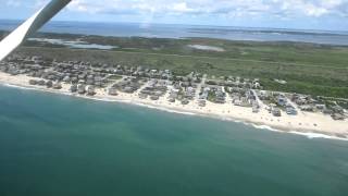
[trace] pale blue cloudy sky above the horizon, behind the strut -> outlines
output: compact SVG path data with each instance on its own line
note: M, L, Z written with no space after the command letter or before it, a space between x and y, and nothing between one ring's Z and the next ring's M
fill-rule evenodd
M47 2L0 0L0 19ZM348 0L73 0L54 20L348 30Z

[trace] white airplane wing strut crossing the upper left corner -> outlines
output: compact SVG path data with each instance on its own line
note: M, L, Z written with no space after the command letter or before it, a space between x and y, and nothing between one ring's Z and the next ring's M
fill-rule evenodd
M61 11L71 0L52 0L0 42L0 61Z

